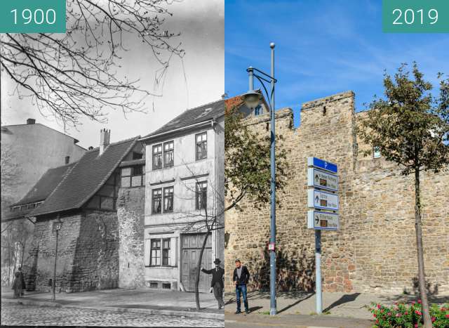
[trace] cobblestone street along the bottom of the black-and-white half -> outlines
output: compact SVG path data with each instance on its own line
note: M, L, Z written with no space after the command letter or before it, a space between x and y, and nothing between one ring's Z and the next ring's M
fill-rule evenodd
M1 304L2 325L130 326L130 327L224 327L223 320L211 320L146 313L121 313L83 308L53 308Z

